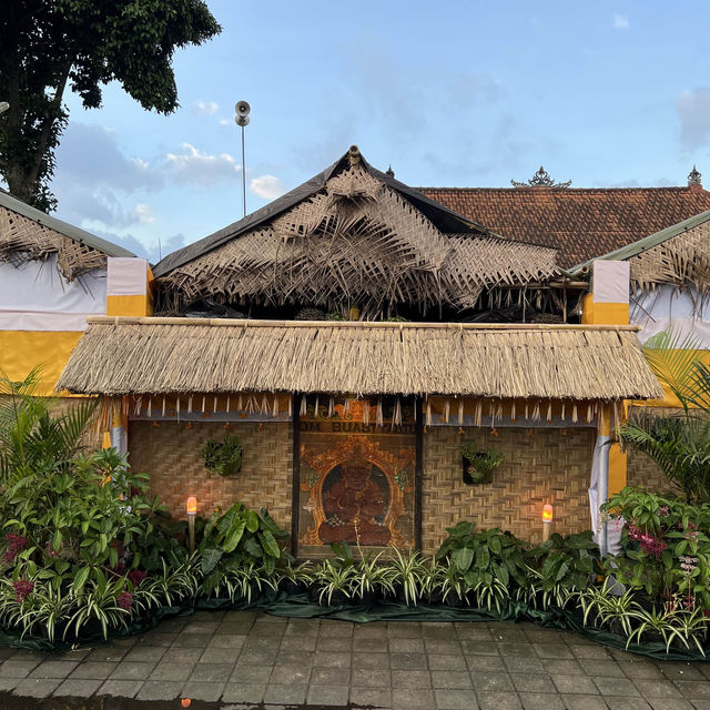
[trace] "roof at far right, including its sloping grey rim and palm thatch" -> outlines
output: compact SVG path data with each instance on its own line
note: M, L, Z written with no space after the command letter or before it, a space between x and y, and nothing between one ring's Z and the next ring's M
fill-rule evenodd
M599 258L628 261L631 286L653 291L661 285L710 290L710 211L656 232ZM575 267L588 266L586 262Z

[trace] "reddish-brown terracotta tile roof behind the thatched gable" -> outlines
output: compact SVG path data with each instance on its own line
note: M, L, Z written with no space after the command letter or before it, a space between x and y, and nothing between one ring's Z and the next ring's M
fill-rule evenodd
M688 187L419 187L427 197L510 240L559 250L562 267L600 256L710 210Z

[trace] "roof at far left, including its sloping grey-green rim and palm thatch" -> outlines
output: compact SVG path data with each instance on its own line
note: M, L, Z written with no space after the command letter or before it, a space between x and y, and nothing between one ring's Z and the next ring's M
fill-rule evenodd
M52 254L57 254L57 267L67 281L105 267L106 256L135 256L0 190L0 262L20 265Z

